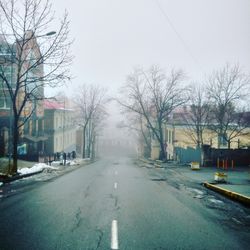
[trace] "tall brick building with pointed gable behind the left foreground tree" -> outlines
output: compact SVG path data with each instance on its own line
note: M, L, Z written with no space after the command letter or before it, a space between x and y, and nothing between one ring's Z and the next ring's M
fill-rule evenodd
M21 49L22 45L24 46ZM19 158L37 160L44 152L44 141L47 139L44 135L42 103L44 88L39 80L44 75L44 69L42 63L36 67L30 67L40 58L40 49L32 31L28 31L23 40L12 44L7 43L3 37L0 38L0 140L2 145L0 153L2 156L12 152L14 115L11 108L13 99L10 98L10 89L17 92L14 101L18 113L22 110L18 114ZM19 80L17 80L18 68L22 75ZM32 93L29 98L27 93Z

